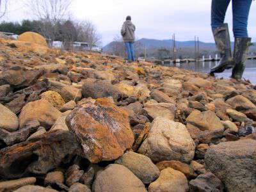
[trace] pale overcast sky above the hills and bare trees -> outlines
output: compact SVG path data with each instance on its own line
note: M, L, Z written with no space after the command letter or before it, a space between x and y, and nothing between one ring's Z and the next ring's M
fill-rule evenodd
M33 19L19 2L13 1L5 20ZM132 16L136 25L137 38L163 40L170 39L175 33L180 41L193 40L197 35L201 41L213 42L211 0L73 0L71 12L76 19L92 20L102 36L102 45L119 35L127 15ZM226 22L230 24L231 32L231 3ZM252 4L248 30L256 42L256 2Z

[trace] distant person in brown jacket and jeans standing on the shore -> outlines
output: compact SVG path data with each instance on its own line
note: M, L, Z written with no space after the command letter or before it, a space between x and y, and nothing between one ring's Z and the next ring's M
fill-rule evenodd
M126 20L121 29L121 35L124 40L124 44L127 51L127 56L129 62L135 61L135 52L134 52L134 40L135 40L135 26L131 22L131 16L127 16Z

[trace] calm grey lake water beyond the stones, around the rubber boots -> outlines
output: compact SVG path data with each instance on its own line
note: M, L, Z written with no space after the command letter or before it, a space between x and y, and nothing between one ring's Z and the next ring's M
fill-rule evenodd
M209 73L211 68L217 65L218 61L211 61L211 62L199 62L199 63L176 63L176 64L164 64L165 66L171 66L171 67L179 67L179 68L185 68L188 70L193 70L196 72L203 72L203 73ZM225 70L221 74L216 74L216 77L224 77L229 78L232 74L232 69ZM256 60L247 60L246 61L246 68L244 70L244 76L245 79L249 79L253 84L256 84Z

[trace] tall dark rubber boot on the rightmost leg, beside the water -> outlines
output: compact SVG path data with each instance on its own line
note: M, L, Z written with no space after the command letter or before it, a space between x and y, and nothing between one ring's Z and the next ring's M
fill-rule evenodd
M236 38L234 47L234 68L232 78L242 79L252 38Z

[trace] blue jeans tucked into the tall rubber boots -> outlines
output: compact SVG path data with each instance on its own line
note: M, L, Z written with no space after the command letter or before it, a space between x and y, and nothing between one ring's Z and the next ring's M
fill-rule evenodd
M212 0L212 31L223 24L231 0ZM233 33L235 37L248 37L247 24L252 0L232 0Z

